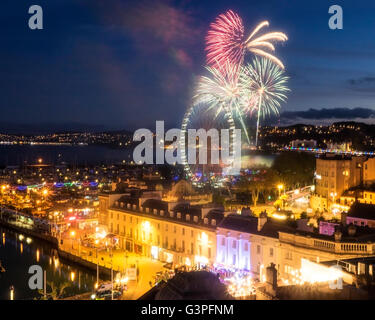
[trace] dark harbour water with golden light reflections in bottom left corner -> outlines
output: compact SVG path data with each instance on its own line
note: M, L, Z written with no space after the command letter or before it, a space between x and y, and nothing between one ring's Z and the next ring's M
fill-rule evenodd
M96 273L77 266L71 266L58 258L57 251L37 239L20 235L0 227L0 261L6 269L0 273L0 300L8 300L11 286L14 287L14 299L33 299L39 297L37 290L28 286L29 267L39 264L47 273L47 283L53 283L56 289L69 282L65 296L91 292L96 282ZM22 239L22 240L21 240ZM29 239L29 240L27 240ZM50 289L47 288L47 292Z

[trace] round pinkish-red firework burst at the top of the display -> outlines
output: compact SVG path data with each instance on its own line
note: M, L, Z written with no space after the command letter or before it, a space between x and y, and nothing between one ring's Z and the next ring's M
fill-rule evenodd
M206 36L207 64L220 70L228 64L239 67L245 54L244 41L240 16L232 10L220 14Z

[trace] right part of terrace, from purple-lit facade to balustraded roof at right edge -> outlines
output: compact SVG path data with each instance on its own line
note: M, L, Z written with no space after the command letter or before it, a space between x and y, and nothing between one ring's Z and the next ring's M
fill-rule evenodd
M375 254L375 233L353 225L332 224L332 232L304 231L285 222L231 214L217 228L217 266L248 271L264 281L275 265L281 282L296 283L303 261L367 257ZM331 230L330 230L331 231Z

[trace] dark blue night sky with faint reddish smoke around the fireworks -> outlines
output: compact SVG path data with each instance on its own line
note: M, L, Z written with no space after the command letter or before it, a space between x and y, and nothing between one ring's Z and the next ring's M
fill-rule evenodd
M179 126L204 73L209 24L228 9L247 31L285 32L276 54L291 77L285 111L375 109L373 0L2 0L1 122L106 128ZM28 28L29 6L44 30ZM330 30L341 5L344 29ZM247 61L251 55L247 55Z

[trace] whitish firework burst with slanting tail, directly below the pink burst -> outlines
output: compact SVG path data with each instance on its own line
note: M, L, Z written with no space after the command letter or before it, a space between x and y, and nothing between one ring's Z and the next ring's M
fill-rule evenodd
M216 115L227 112L233 118L239 119L250 143L242 117L242 102L244 101L244 96L250 91L241 91L237 67L226 64L224 68L226 72L221 72L213 67L206 67L211 77L200 77L193 97L193 105L205 103L209 109L216 109Z

